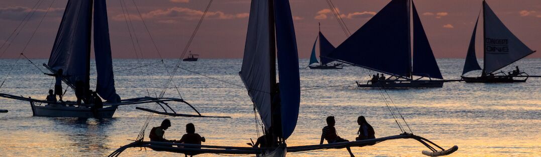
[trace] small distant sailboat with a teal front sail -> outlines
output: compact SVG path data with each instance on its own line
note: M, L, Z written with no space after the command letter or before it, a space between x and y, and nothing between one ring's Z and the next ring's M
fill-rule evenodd
M318 42L319 39L319 55L321 63L318 61L318 58L315 56L315 45ZM334 63L330 64L333 60L329 60L327 58L321 57L326 56L329 53L331 53L335 47L325 38L323 33L321 33L321 28L319 30L318 37L315 38L314 46L312 47L312 53L310 55L310 63L308 63L308 67L310 69L342 69L342 63ZM320 63L319 65L313 65L314 63Z

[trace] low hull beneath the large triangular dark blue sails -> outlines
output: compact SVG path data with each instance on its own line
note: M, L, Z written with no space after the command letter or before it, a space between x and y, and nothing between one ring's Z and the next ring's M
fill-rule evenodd
M407 89L407 88L441 88L444 81L434 80L413 80L413 81L378 81L372 83L368 81L366 84L357 82L357 87L360 88L385 88L385 89Z

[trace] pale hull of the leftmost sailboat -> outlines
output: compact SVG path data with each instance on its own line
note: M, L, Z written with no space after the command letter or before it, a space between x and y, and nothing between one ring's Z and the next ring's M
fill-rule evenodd
M32 114L37 117L113 118L117 109L117 106L109 106L97 109L94 112L91 108L86 108L84 106L38 106L33 102L31 102L30 105L32 106Z

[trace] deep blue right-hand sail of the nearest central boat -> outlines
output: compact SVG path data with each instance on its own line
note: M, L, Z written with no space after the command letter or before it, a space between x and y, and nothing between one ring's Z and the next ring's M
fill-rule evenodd
M299 116L300 76L299 56L295 28L288 0L275 0L276 48L282 116L282 138L287 139L295 130Z

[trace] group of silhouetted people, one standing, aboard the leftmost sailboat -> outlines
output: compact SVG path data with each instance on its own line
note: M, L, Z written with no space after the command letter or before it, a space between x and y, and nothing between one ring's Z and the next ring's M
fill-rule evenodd
M55 103L50 103L50 105L60 105L60 104L56 104L57 102L56 96L58 96L58 100L61 103L64 102L62 100L62 97L63 97L62 80L69 76L63 75L62 69L58 69L57 72L54 74L47 74L47 73L44 73L44 74L55 77L54 91L52 89L49 90L49 95L47 95L46 100L49 102L55 102ZM81 103L84 102L84 104L93 104L92 106L93 110L103 108L103 101L101 97L95 91L92 91L92 90L85 91L84 83L82 81L75 82L75 96L77 97L77 102L76 102L77 105L81 105Z

